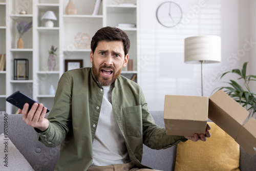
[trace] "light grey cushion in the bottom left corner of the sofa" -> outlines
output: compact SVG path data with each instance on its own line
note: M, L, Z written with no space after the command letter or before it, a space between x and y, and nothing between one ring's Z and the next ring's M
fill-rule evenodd
M0 170L34 170L8 137L1 134L0 142Z

